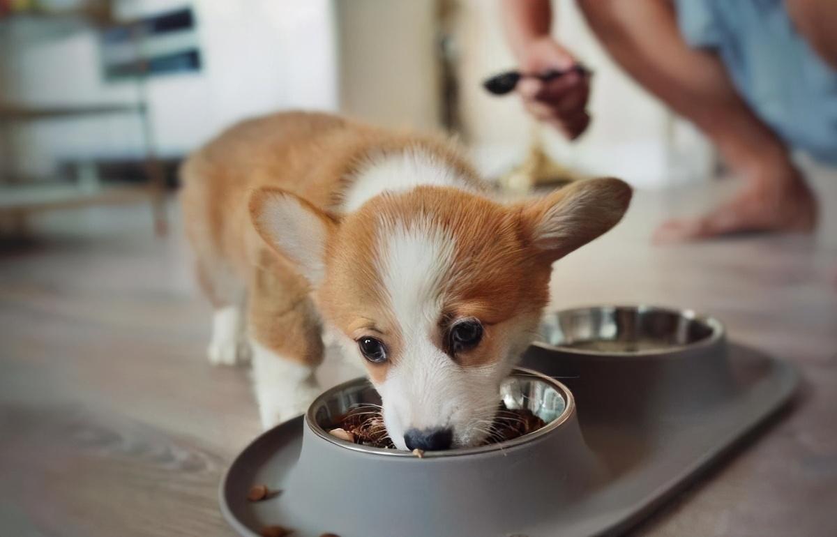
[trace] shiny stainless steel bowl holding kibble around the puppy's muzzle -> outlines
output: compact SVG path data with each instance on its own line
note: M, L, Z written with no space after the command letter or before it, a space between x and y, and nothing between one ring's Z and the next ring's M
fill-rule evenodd
M506 378L500 386L499 399L506 404L506 408L526 408L540 417L546 426L530 432L522 437L513 438L506 442L499 442L481 447L467 447L448 449L444 451L427 452L424 457L451 457L473 453L486 453L529 442L534 438L548 434L552 429L560 427L573 411L573 395L560 382L535 371L517 369ZM369 382L350 381L331 390L323 392L311 403L306 413L306 426L318 436L328 442L336 443L365 453L414 457L413 453L382 447L368 447L346 442L331 435L328 431L335 427L335 422L353 408L365 405L380 405L381 396Z

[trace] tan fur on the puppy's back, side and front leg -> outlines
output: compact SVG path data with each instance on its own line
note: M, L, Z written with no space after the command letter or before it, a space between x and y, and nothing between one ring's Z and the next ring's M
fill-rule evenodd
M393 135L334 115L280 113L224 131L181 170L183 217L204 294L217 308L246 294L252 337L291 360L318 365L322 343L310 286L255 232L249 197L281 187L330 212L365 159L417 146L477 182L445 141Z

